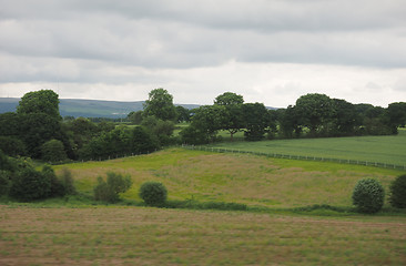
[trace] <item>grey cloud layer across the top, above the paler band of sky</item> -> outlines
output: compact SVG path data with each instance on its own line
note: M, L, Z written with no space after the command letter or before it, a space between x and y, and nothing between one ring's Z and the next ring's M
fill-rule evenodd
M233 59L405 66L406 2L356 2L2 1L0 49L146 68Z

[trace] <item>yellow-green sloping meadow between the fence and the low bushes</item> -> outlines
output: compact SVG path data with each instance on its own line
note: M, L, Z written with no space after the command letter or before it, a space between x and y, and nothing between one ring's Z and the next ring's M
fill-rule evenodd
M58 166L60 170L63 166ZM160 181L170 200L223 201L267 207L313 204L351 206L355 183L375 177L387 188L403 172L376 167L213 154L172 149L150 155L65 165L81 192L92 193L99 175L109 171L130 174L132 188L123 196L139 200L140 185Z

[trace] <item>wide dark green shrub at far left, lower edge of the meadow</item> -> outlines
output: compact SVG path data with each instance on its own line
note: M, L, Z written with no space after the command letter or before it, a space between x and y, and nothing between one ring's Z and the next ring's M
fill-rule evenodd
M45 198L51 192L51 180L33 167L23 167L13 176L9 195L19 201Z

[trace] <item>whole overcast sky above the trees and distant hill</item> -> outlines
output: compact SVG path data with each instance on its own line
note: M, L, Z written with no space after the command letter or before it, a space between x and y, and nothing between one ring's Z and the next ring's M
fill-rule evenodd
M0 0L0 98L406 102L405 0Z

